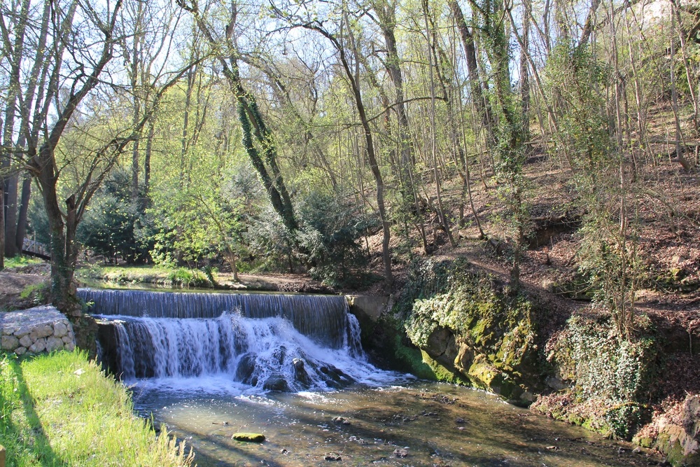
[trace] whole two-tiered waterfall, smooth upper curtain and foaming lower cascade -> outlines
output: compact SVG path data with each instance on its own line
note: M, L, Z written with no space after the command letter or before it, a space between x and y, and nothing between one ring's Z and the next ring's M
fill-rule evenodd
M83 289L102 361L125 381L216 377L253 390L386 383L344 297Z

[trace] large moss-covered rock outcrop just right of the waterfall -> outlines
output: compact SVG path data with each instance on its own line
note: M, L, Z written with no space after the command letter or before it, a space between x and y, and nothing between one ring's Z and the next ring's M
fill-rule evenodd
M518 403L540 386L531 301L466 260L413 265L397 311L438 379Z

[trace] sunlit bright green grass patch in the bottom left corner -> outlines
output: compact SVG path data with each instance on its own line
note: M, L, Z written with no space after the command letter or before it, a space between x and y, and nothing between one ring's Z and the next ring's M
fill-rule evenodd
M0 355L0 444L8 467L190 466L165 430L133 413L125 387L81 352Z

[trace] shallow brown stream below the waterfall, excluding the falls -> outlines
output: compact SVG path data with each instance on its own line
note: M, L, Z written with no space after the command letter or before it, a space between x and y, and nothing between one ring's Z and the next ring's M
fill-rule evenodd
M210 382L214 390L201 380L193 382L200 389L184 391L154 383L136 387L137 410L186 439L200 467L622 467L661 461L633 452L628 443L449 384L261 395L243 387L227 391L227 383L216 380ZM266 440L232 440L239 431Z

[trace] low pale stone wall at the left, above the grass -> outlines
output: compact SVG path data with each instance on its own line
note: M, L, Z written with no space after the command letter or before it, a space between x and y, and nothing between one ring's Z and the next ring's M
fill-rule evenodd
M0 314L0 330L2 349L18 355L76 348L73 325L50 305Z

